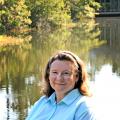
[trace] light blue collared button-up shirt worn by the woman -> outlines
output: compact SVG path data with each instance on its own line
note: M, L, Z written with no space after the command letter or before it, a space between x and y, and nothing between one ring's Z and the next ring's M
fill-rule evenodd
M86 97L78 89L72 90L59 103L55 92L41 97L32 107L26 120L96 120Z

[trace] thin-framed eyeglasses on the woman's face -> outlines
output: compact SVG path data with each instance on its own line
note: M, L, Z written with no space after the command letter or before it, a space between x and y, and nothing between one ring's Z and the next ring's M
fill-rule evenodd
M50 76L55 78L58 75L60 75L62 78L64 79L69 79L74 73L70 72L70 71L63 71L61 73L57 72L57 71L50 71Z

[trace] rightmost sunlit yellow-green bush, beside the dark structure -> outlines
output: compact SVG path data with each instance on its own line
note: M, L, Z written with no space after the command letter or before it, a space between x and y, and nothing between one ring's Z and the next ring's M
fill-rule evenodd
M72 20L94 18L100 4L95 0L67 0L70 6Z

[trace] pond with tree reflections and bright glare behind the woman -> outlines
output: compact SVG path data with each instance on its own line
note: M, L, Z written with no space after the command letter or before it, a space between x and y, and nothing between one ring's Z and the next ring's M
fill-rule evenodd
M120 18L97 18L77 27L30 33L31 41L0 48L0 120L24 120L42 95L49 57L70 50L85 63L95 109L102 120L120 120Z

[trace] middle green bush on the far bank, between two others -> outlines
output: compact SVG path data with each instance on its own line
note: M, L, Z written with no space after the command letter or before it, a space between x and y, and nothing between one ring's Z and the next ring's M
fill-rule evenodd
M39 0L31 5L32 26L61 25L70 21L69 9L65 8L63 0Z

